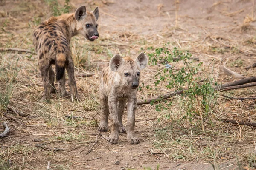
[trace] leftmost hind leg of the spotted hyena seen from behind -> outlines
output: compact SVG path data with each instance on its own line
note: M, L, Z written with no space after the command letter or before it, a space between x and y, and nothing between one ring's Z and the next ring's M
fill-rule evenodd
M44 96L42 100L47 100L49 98L52 87L51 80L49 78L49 68L50 64L39 63L40 74L44 85Z

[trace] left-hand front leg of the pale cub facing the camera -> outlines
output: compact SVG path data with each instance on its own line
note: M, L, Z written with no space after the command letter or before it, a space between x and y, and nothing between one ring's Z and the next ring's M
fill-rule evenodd
M113 93L108 97L108 108L111 120L111 133L108 137L108 143L117 143L120 125L117 115L117 99Z

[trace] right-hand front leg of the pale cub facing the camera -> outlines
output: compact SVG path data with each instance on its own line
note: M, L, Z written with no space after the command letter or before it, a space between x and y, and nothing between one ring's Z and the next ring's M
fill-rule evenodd
M140 143L139 139L135 136L135 132L134 132L136 103L137 103L136 96L134 98L128 99L126 130L127 130L127 140L130 144Z

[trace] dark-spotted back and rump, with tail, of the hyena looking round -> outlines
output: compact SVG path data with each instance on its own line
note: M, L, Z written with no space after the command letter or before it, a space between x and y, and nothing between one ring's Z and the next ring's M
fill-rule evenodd
M68 24L54 17L42 23L34 31L34 45L38 51L39 67L55 64L57 80L63 76L64 65L71 56L70 42L66 37L70 37Z

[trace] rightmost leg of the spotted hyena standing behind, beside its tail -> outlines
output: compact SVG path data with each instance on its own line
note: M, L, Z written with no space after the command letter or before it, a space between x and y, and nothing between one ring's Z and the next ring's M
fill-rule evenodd
M70 93L71 93L70 95L71 95L71 97L73 99L79 100L79 98L77 96L74 63L73 63L72 59L68 60L68 64L66 66L66 70L67 70L67 74L68 74L68 84L70 86Z

